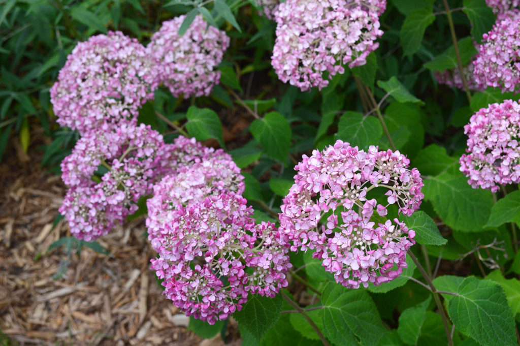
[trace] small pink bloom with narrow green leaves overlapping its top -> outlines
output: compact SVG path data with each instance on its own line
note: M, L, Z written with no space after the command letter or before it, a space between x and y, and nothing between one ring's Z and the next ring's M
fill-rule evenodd
M211 94L218 84L220 72L214 71L229 46L224 31L209 27L201 15L195 17L183 36L178 35L186 16L163 22L147 46L155 59L158 81L174 96L203 96Z

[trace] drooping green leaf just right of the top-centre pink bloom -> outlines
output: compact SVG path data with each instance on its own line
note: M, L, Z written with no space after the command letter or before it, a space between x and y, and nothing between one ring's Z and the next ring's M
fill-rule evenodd
M405 56L412 55L421 48L421 42L426 28L434 22L432 8L418 8L410 11L402 23L399 38Z

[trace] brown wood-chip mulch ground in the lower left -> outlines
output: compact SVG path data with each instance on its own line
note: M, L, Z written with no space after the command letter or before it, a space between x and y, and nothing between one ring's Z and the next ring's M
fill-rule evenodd
M52 278L67 255L47 249L70 233L63 222L53 229L65 188L40 168L41 144L28 156L11 138L0 164L0 330L21 345L223 345L187 330L161 296L142 217L99 240L110 255L84 248Z

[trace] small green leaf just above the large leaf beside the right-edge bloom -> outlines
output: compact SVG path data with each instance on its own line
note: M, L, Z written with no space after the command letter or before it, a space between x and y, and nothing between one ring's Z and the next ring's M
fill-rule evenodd
M437 144L431 144L419 151L413 165L422 175L459 172L459 160L448 156L446 148Z

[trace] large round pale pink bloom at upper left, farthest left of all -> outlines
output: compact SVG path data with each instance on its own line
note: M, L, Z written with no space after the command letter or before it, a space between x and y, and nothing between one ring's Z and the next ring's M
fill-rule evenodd
M145 47L119 31L77 44L50 89L58 123L85 134L134 119L157 88L151 72Z

